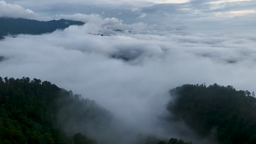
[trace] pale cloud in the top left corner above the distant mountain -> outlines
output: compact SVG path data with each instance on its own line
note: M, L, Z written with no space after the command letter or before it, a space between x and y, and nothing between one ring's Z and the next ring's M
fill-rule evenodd
M30 9L25 9L17 4L8 4L5 1L0 1L0 17L15 17L36 19L37 15Z

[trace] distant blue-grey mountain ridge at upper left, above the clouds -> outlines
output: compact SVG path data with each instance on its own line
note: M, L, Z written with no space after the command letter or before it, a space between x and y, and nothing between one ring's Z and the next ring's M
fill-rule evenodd
M14 19L0 17L0 39L6 35L16 34L44 34L51 33L57 29L65 29L72 25L84 25L84 22L71 20L37 21L28 19Z

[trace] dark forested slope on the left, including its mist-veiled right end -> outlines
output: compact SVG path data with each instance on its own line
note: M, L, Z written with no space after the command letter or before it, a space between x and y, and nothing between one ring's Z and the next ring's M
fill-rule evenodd
M95 101L83 99L56 85L38 79L8 79L0 77L0 143L72 143L94 144L85 128L90 123L96 131L107 125L112 115ZM69 125L65 129L63 125ZM110 127L109 127L110 128ZM108 129L109 129L108 128ZM187 144L182 140L160 141L147 144ZM109 143L109 142L106 142ZM188 143L190 144L190 143Z

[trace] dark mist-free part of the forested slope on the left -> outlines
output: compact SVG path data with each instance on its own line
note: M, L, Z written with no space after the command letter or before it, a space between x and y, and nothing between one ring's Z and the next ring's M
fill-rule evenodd
M59 99L84 104L48 81L0 77L0 143L95 143L82 134L69 137L56 127L63 107Z

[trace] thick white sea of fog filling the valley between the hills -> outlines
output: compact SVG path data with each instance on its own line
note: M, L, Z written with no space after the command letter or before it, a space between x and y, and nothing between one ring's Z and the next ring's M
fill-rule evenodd
M0 62L0 76L51 81L96 100L135 131L187 140L192 138L159 119L166 112L171 88L185 83L219 83L256 89L253 31L162 32L154 27L146 31L144 25L139 31L140 24L127 25L99 15L60 17L87 23L0 41L0 55L7 57ZM137 31L113 31L119 28ZM91 31L111 36L91 35Z

